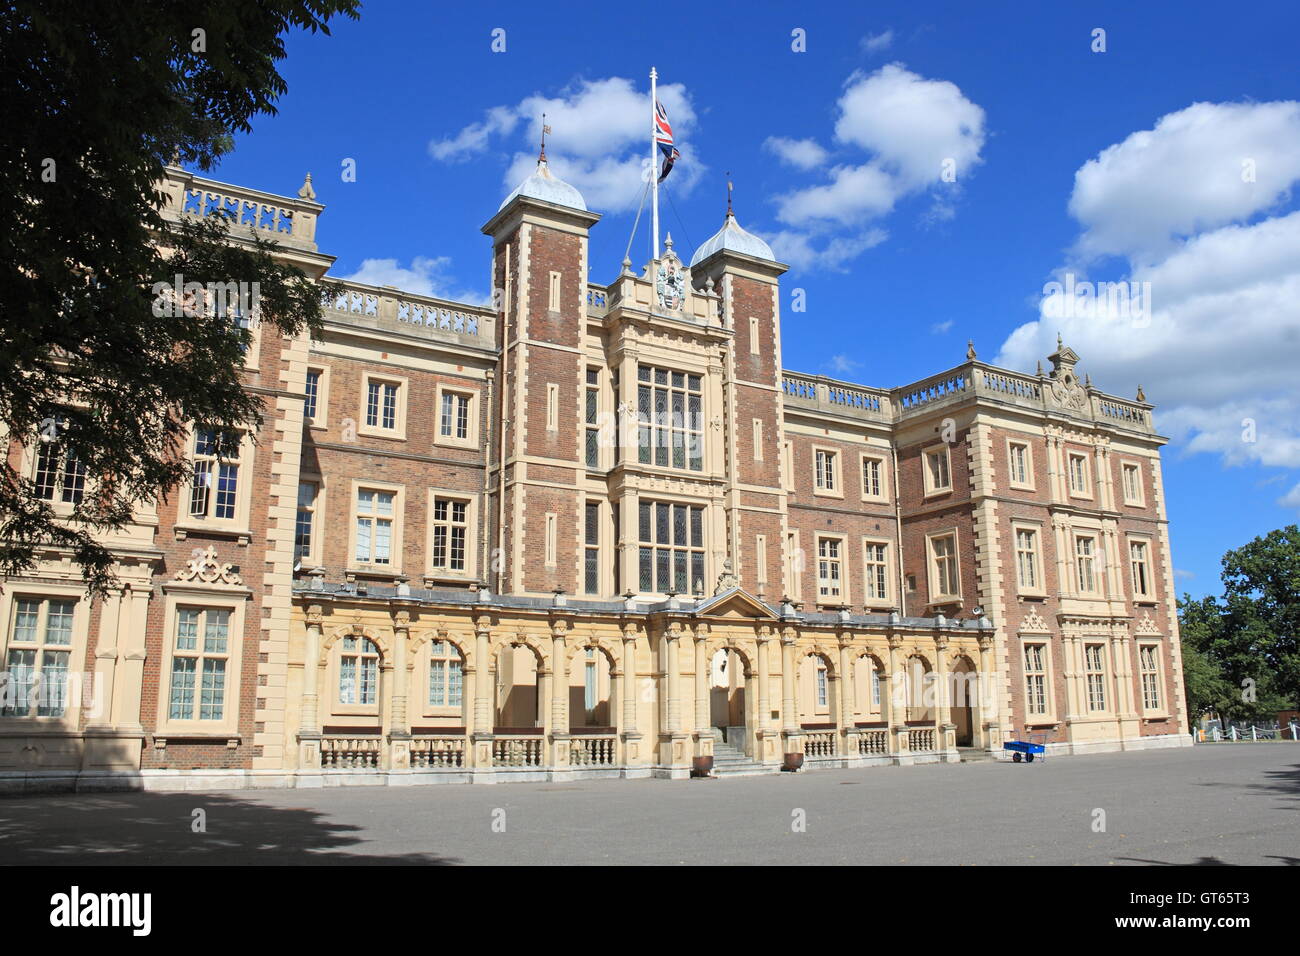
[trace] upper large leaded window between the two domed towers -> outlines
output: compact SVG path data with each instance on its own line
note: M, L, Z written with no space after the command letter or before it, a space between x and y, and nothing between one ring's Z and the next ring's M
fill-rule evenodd
M637 368L637 455L642 464L703 471L703 394L698 375Z

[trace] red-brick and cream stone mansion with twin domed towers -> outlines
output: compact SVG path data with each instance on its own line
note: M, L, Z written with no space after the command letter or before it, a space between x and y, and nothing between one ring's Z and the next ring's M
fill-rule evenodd
M250 434L109 541L4 581L0 788L688 777L1190 743L1152 406L1058 345L902 388L784 369L785 269L728 209L588 281L545 160L482 307L332 280L296 196L169 168L324 286L254 333ZM55 509L57 442L8 454Z

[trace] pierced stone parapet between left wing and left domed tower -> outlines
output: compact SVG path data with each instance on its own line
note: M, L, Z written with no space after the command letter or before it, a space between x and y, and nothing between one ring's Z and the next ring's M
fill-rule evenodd
M497 313L490 306L436 299L347 278L325 281L332 284L324 293L326 317L450 342L485 347L497 343Z

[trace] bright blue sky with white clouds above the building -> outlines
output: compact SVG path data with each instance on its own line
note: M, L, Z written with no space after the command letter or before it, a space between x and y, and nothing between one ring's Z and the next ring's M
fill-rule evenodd
M972 338L1032 371L1063 330L1096 385L1158 406L1176 585L1217 591L1226 549L1300 511L1300 7L849 7L370 3L289 38L280 114L214 176L292 194L311 170L335 274L482 298L478 228L546 109L552 168L606 213L606 282L654 65L682 151L662 228L689 259L731 172L741 224L793 267L788 368L892 386ZM642 225L637 268L647 248ZM1150 282L1148 320L1044 317L1067 272Z

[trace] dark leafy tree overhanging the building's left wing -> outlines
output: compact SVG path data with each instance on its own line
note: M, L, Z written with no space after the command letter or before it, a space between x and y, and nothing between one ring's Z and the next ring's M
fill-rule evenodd
M38 549L112 580L96 540L185 477L190 423L255 429L240 385L246 329L156 315L151 287L257 282L273 334L316 330L320 290L273 245L225 242L220 220L169 228L172 161L209 169L274 113L290 29L329 33L358 0L12 0L0 8L0 436L46 446L87 477L69 515L0 463L0 575ZM48 490L48 489L47 489ZM75 497L75 496L73 496ZM70 520L65 520L70 518Z

